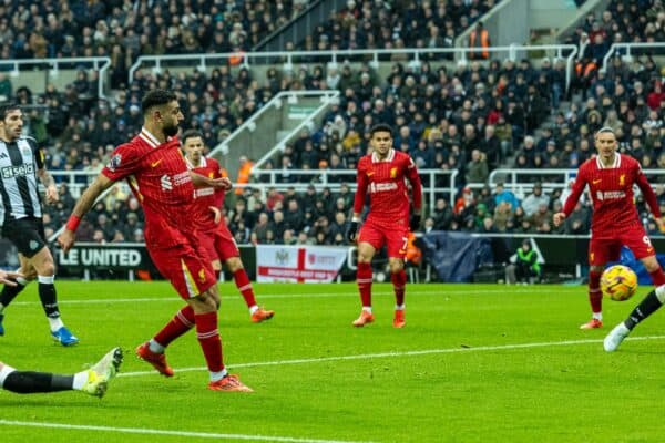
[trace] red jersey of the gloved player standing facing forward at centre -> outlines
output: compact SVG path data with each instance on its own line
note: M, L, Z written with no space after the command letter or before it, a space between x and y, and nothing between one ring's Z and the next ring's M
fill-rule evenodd
M422 206L422 188L413 159L408 154L390 150L386 159L376 153L365 155L358 162L354 212L361 213L365 196L369 193L368 219L377 223L409 223L409 195L407 178L413 192L413 208Z

